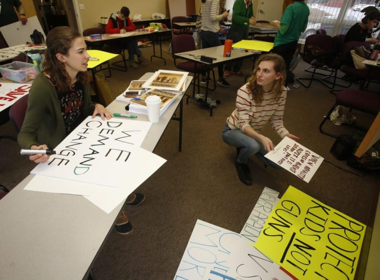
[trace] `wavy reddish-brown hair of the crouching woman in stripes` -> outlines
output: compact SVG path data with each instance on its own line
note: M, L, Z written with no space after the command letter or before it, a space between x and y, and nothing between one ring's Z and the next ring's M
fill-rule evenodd
M274 97L277 101L279 101L286 79L286 67L285 61L278 54L263 54L256 60L255 69L252 72L252 76L248 79L247 87L252 92L253 97L255 98L255 102L260 104L261 101L263 101L263 87L257 84L256 73L257 67L262 61L273 61L274 71L280 75L280 79L275 80L273 87L273 91L275 92Z

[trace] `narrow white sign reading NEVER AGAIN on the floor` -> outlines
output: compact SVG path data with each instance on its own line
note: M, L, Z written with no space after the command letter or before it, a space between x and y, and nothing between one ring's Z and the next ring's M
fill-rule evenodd
M278 191L265 187L257 200L252 213L249 214L249 218L245 222L240 234L253 244L256 243L259 234L261 233L261 229L263 229L265 221L268 219L269 214L271 214L272 209L280 200L278 195Z

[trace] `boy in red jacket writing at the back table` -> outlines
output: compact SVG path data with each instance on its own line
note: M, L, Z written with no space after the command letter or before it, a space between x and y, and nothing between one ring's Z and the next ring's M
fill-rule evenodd
M133 22L129 18L129 14L130 11L127 7L122 7L120 11L112 13L111 16L109 16L108 24L106 25L106 33L117 34L136 30L136 25L133 24ZM142 55L135 39L128 38L127 50L129 56L128 60L132 68L138 67L135 62L135 55L137 55L138 62L149 62L149 60Z

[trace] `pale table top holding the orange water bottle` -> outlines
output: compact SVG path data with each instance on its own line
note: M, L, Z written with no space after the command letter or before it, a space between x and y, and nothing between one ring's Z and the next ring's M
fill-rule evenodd
M180 58L183 58L186 60L196 61L196 62L203 63L203 64L223 63L223 62L228 62L228 60L245 59L247 57L255 55L252 53L252 51L237 52L237 51L232 50L230 57L223 57L223 52L224 52L224 46L222 45L222 46L217 46L217 47L209 47L207 49L199 49L199 50L190 51L190 52L180 52L180 53L177 53L174 55L176 55L176 57L180 57ZM207 62L201 61L200 59L196 59L196 58L190 56L189 54L192 54L195 56L206 55L209 57L214 57L214 58L216 58L216 60L214 60L214 62L212 62L212 63L207 63Z

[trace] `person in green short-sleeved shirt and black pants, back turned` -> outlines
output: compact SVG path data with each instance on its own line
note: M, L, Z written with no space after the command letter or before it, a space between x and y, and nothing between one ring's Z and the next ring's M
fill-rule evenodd
M274 40L273 52L283 57L287 73L289 73L291 57L296 51L299 36L306 30L309 14L309 8L304 0L294 0L294 3L285 9L281 22L276 23L279 31Z

